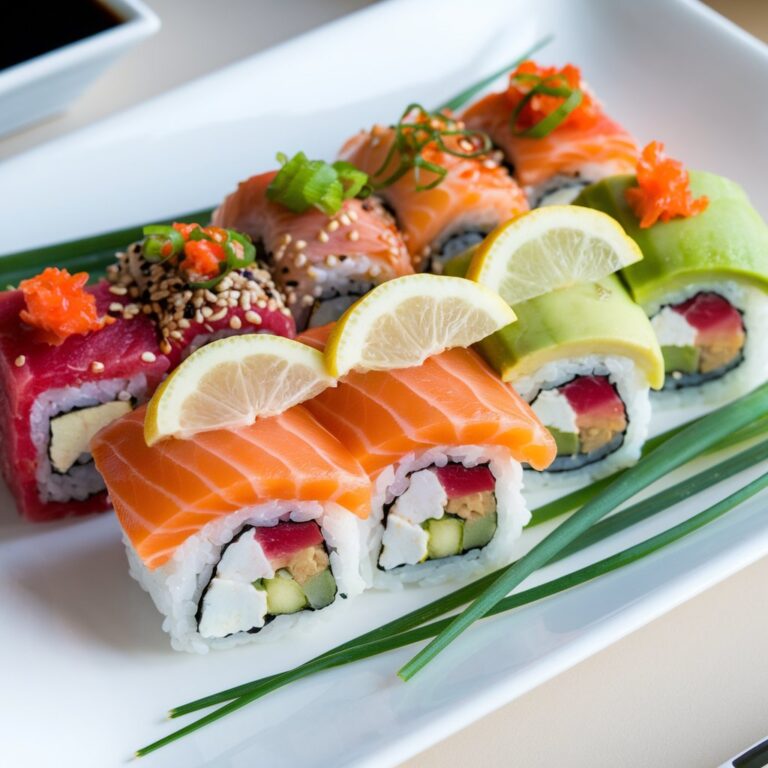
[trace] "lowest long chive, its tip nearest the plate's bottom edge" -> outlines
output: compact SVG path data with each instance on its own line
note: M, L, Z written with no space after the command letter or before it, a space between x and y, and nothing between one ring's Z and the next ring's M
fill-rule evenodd
M505 597L502 600L497 601L494 605L490 606L488 610L478 618L485 618L488 616L495 616L500 613L504 613L514 608L519 608L523 605L528 605L537 600L541 600L546 597L564 592L574 587L584 584L588 581L592 581L599 576L603 576L606 573L615 571L619 568L623 568L631 563L635 563L642 560L649 555L658 552L664 547L680 541L681 539L689 536L690 534L703 528L711 522L714 522L718 518L722 517L726 513L733 510L738 505L744 503L748 499L755 496L760 491L768 487L768 473L765 473L753 480L748 485L739 489L735 493L726 497L722 501L708 507L703 512L699 512L693 517L679 523L666 531L656 534L655 536L646 539L645 541L628 547L615 555L606 557L596 563L592 563L584 568L580 568L576 571L572 571L569 574L560 576L551 581L540 584L531 589L518 592L509 597ZM216 720L225 717L226 715L234 712L242 707L250 704L256 699L265 696L271 691L276 690L290 682L300 680L303 677L307 677L315 672L320 672L325 669L331 669L333 667L342 666L362 659L370 658L388 651L402 648L411 643L426 640L430 637L439 636L447 628L451 626L453 619L442 619L431 624L425 624L420 627L416 627L408 632L403 632L394 636L382 637L375 641L361 644L357 647L349 649L343 657L340 654L335 656L323 655L312 659L311 661L302 664L295 669L289 670L278 675L272 675L263 680L257 681L252 684L248 693L239 696L229 704L214 710L210 714L190 723L184 728L175 731L168 736L159 739L152 744L148 744L145 747L137 750L137 757L147 755L150 752L154 752L163 746L166 746L177 739L182 738L194 731L208 725ZM181 708L178 708L176 711Z

